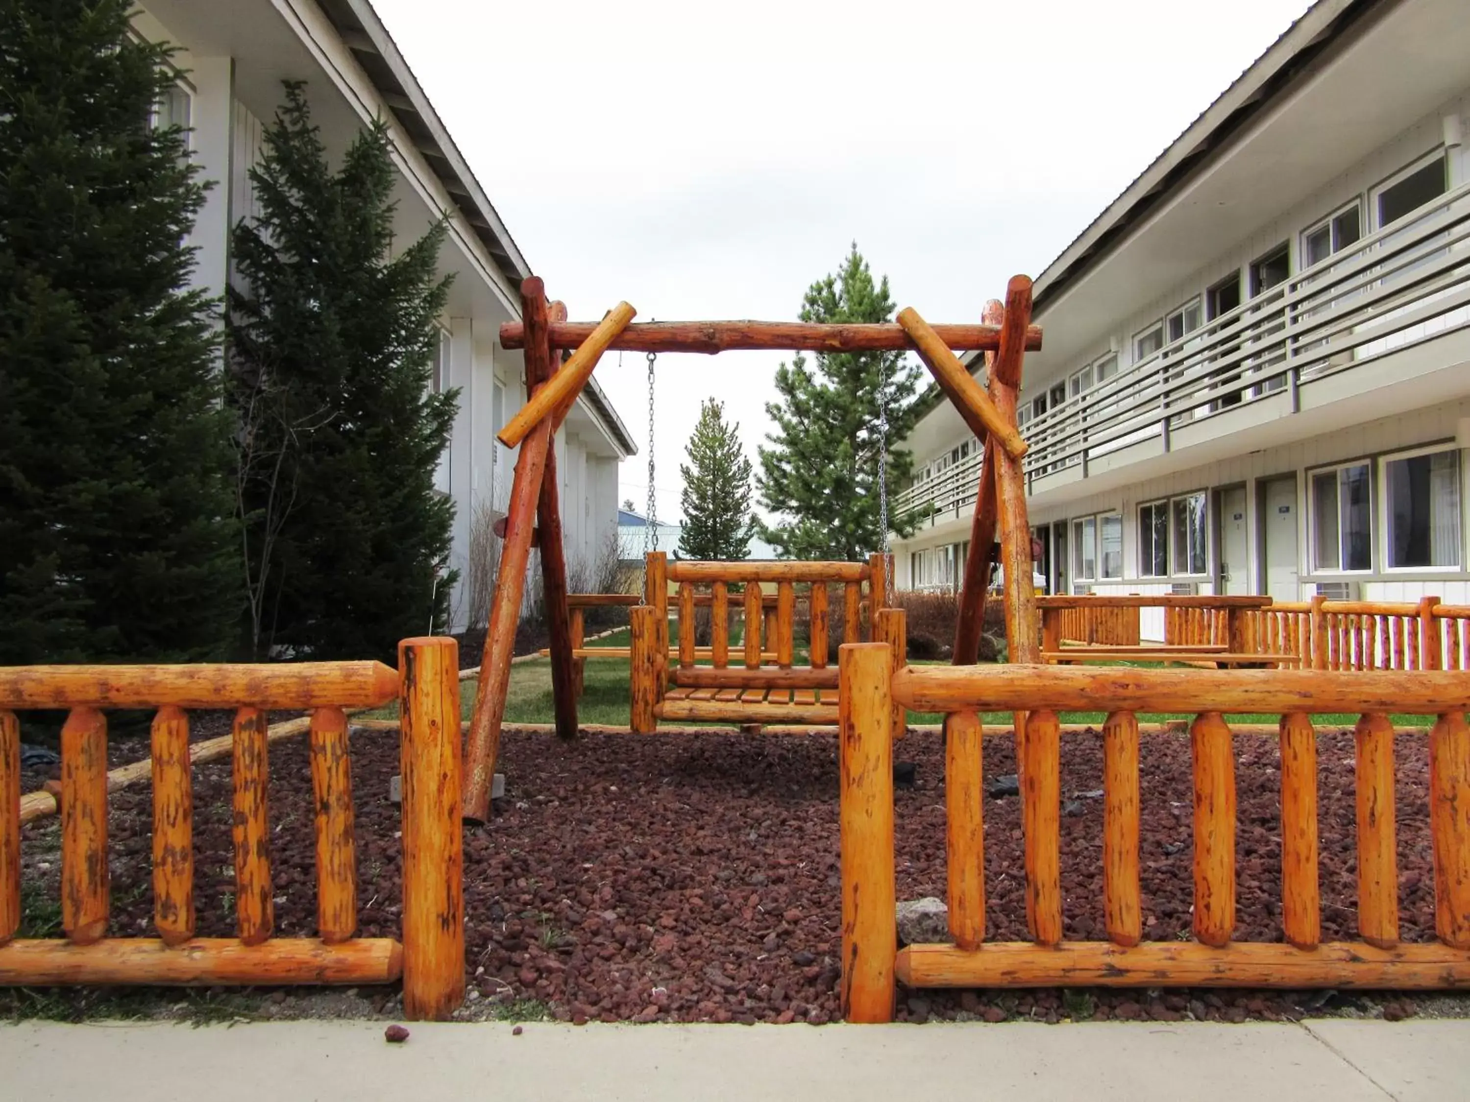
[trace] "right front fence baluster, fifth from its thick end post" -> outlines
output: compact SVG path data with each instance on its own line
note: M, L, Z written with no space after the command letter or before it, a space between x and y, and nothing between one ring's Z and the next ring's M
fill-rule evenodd
M1317 733L1311 716L1280 721L1282 754L1282 934L1298 949L1322 940L1317 883Z

